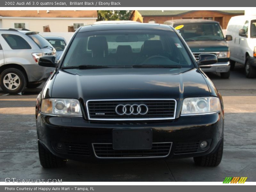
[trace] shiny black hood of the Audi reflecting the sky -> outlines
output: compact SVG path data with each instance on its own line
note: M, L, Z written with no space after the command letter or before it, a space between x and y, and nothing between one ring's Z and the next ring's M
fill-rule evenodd
M196 68L100 68L59 70L50 94L76 99L179 99L209 96Z

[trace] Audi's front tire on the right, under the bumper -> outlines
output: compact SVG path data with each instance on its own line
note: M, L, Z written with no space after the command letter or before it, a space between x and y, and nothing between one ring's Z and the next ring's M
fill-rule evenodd
M222 154L223 154L223 139L215 153L210 155L205 155L205 156L193 157L193 158L196 165L204 166L204 167L215 167L220 164L222 159Z

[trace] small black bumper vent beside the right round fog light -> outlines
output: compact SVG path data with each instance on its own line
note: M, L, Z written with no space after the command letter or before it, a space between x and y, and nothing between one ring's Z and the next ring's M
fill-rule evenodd
M199 140L177 142L174 153L175 154L195 153L197 152L198 147L199 147Z

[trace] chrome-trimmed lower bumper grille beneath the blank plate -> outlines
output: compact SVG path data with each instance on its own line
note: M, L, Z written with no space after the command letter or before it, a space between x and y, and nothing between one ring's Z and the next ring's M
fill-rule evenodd
M172 143L152 143L147 150L114 150L112 143L93 143L92 147L98 158L157 158L168 156Z

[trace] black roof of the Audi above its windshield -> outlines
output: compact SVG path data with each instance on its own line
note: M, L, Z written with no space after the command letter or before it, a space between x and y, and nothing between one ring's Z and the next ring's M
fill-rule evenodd
M103 30L165 30L173 31L168 25L153 23L108 23L108 24L92 24L81 27L78 33L86 31L103 31Z

